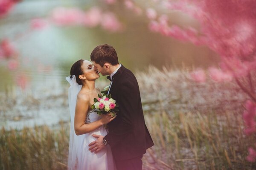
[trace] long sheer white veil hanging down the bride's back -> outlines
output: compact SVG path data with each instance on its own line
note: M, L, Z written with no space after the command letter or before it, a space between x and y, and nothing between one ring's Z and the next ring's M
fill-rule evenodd
M70 109L70 144L69 144L69 155L68 155L68 170L75 170L77 168L76 162L81 156L79 156L79 150L81 149L81 142L83 136L77 136L74 129L74 118L76 110L76 98L77 94L81 90L81 85L77 84L76 76L73 75L72 78L66 77L66 80L70 83L70 88L68 89L68 104Z

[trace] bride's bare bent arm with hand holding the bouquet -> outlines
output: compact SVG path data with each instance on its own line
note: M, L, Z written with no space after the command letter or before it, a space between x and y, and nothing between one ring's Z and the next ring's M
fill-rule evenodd
M96 122L85 123L84 121L88 112L88 108L90 107L89 101L89 96L77 96L74 122L76 135L89 133L113 120L113 118L111 118L111 115L102 115L102 118L97 120Z

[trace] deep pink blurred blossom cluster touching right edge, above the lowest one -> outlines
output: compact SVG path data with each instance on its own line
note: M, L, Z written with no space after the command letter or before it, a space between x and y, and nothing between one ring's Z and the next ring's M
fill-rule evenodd
M250 100L247 100L245 103L245 111L243 113L243 119L245 124L244 133L246 135L251 135L256 132L256 104Z

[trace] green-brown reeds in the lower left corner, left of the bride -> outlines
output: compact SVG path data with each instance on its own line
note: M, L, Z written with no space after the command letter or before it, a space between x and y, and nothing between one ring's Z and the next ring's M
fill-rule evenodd
M6 131L2 127L0 130L0 169L67 169L69 141L67 127L63 123L58 130L51 130L47 126L35 126Z

